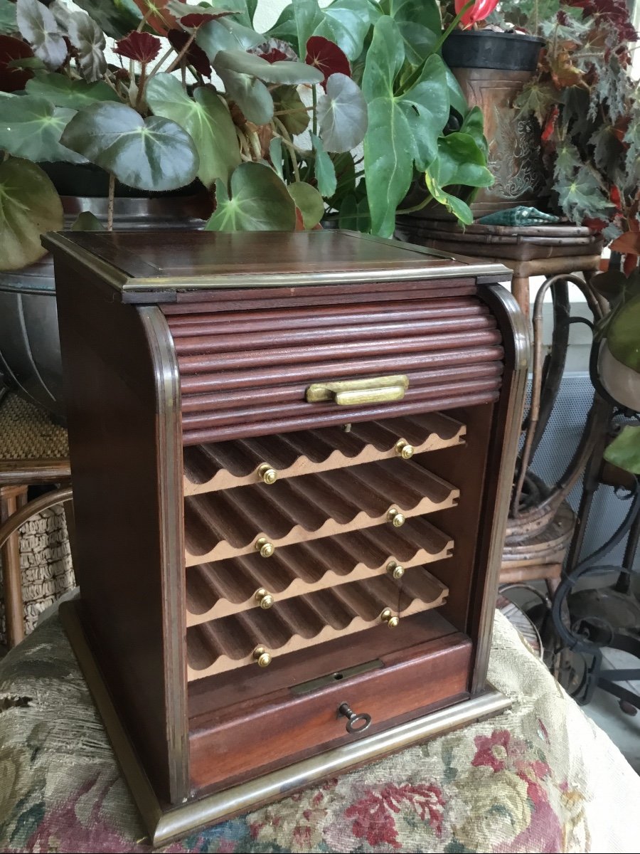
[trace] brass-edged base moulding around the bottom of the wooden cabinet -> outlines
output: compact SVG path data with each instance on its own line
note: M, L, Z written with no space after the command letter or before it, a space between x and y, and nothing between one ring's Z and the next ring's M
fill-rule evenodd
M180 839L196 828L239 815L258 804L284 798L296 789L310 786L313 782L326 779L355 765L402 750L416 742L462 727L480 718L497 715L509 708L512 702L491 688L486 693L463 700L450 708L434 711L384 733L369 735L351 744L335 747L225 792L190 800L171 809L163 809L119 721L113 701L84 638L76 609L76 602L64 602L60 607L61 621L154 847L166 845L172 839Z

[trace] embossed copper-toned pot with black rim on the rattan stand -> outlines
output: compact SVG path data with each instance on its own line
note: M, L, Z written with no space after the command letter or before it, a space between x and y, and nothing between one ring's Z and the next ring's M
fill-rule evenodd
M487 165L496 181L475 196L476 217L516 205L544 209L549 191L540 131L535 120L517 119L513 106L536 70L543 45L543 38L521 33L460 30L443 46L469 106L480 107L485 117Z

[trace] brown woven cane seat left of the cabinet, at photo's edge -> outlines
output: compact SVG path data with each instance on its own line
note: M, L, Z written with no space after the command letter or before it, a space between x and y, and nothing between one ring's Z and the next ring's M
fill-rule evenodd
M49 415L9 392L0 401L0 461L66 459L67 430Z

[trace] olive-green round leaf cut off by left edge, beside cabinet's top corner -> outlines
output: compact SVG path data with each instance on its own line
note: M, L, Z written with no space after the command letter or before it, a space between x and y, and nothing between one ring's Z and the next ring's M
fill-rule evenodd
M9 157L0 164L0 268L20 270L46 254L44 231L60 231L62 202L43 170Z

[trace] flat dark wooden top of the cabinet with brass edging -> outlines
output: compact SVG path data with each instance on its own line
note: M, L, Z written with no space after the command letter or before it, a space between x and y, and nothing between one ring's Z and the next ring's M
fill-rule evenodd
M122 291L510 275L501 264L355 231L63 231L43 243Z

